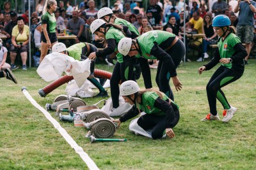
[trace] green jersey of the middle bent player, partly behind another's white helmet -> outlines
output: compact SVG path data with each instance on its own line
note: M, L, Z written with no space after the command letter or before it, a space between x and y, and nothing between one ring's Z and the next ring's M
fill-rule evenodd
M119 31L118 29L115 29L114 27L110 27L108 29L108 32L106 33L106 39L115 39L116 41L116 48L115 48L115 52L118 51L117 49L117 45L118 45L118 42L122 39L122 38L125 38L124 34L122 31ZM123 60L123 55L121 53L117 53L116 54L116 58L117 58L117 61L122 63L124 60Z

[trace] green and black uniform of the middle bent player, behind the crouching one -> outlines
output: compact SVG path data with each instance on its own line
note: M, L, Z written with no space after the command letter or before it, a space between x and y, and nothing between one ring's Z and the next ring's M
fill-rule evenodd
M96 52L97 57L106 57L113 52L117 52L117 46L120 39L125 38L125 35L122 31L115 29L114 27L109 27L108 31L106 32L105 39L107 41L108 46L104 48L104 50L99 50ZM113 69L113 73L110 79L110 89L111 89L111 98L113 101L113 108L118 108L119 106L119 82L127 80L135 80L133 74L134 64L136 60L132 59L129 56L124 56L121 53L116 54L117 61L115 67ZM150 75L150 73L149 73ZM150 76L148 76L150 78ZM147 80L148 81L148 80ZM145 85L146 86L146 85ZM150 89L150 83L147 84L147 89Z

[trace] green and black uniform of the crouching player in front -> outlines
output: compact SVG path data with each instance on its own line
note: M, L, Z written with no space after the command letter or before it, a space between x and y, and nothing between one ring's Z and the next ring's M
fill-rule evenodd
M179 122L179 106L163 94L161 99L156 92L147 91L141 96L141 103L138 103L140 110L134 105L124 116L120 117L120 122L125 122L136 117L140 111L145 115L138 119L138 125L145 131L152 129L152 138L162 138L166 128L173 128Z

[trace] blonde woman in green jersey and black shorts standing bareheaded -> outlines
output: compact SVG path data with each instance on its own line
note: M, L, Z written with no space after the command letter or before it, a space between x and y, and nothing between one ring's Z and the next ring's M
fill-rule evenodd
M41 35L41 57L40 62L47 55L48 49L55 43L58 43L56 36L56 18L54 11L57 10L57 2L55 0L47 0L44 5L42 20L42 35Z

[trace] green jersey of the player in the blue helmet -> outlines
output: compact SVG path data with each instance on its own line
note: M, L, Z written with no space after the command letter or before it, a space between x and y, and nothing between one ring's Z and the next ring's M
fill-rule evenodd
M236 50L234 49L234 46L237 43L241 43L241 40L236 36L236 34L233 34L233 33L228 35L224 39L224 41L220 39L220 41L218 41L218 48L219 48L221 59L232 57L236 52ZM228 64L221 64L221 65L228 67L230 69L232 67L232 62Z

